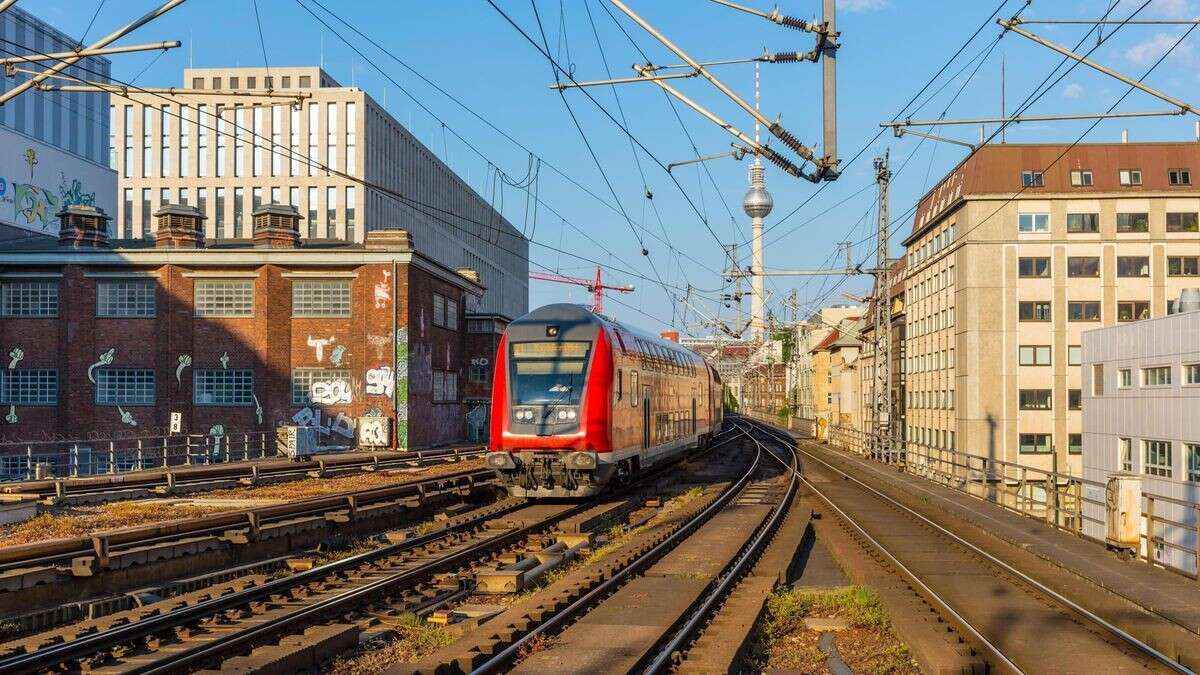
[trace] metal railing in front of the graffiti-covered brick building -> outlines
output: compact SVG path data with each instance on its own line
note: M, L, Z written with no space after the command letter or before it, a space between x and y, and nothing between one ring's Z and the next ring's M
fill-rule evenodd
M275 431L204 436L176 434L121 438L0 443L0 480L125 473L263 459L276 454Z

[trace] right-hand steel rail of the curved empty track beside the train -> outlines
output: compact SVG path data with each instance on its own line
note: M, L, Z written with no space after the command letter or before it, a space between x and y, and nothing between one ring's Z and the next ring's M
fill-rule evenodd
M787 483L787 492L780 500L779 504L773 509L770 518L766 520L755 533L754 539L748 542L738 557L734 558L732 563L726 566L725 574L720 578L716 586L712 590L707 590L703 593L703 603L691 611L691 617L688 622L674 633L670 641L664 645L658 656L643 669L646 674L653 673L666 673L674 665L677 653L683 649L684 644L689 641L697 632L701 622L706 621L713 610L716 608L718 603L722 603L728 596L733 586L743 579L746 568L757 560L758 554L766 550L769 544L770 537L779 530L780 524L784 521L784 516L787 515L792 506L792 500L796 496L796 491L799 488L799 476L800 473L796 471L797 462L797 450L794 443L792 444L792 464L788 465L784 460L779 459L775 453L766 448L762 441L755 438L754 435L746 432L746 436L758 446L758 452L766 450L770 456L775 458L785 468L790 470L791 480ZM769 437L769 435L768 435ZM778 438L776 442L782 443Z

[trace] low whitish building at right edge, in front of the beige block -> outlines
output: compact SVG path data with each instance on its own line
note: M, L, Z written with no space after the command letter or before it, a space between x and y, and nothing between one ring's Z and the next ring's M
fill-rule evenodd
M1200 513L1200 291L1193 293L1181 313L1082 335L1084 533L1105 538L1103 485L1138 474L1141 492L1158 497L1150 556L1192 574Z

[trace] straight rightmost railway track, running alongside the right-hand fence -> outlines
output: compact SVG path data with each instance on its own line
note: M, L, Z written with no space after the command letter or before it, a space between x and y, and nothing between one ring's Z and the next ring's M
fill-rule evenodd
M791 436L758 425L775 438ZM800 480L1004 673L1192 673L1112 622L798 444ZM1051 641L1052 640L1052 641Z

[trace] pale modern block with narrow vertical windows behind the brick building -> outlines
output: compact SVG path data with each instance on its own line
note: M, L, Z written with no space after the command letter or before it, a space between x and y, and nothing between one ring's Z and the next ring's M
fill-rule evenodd
M528 310L528 240L364 90L318 67L185 68L181 84L113 100L116 237L150 238L163 204L188 204L209 239L245 240L259 205L289 204L304 240L402 227L439 264L479 270L470 312Z

